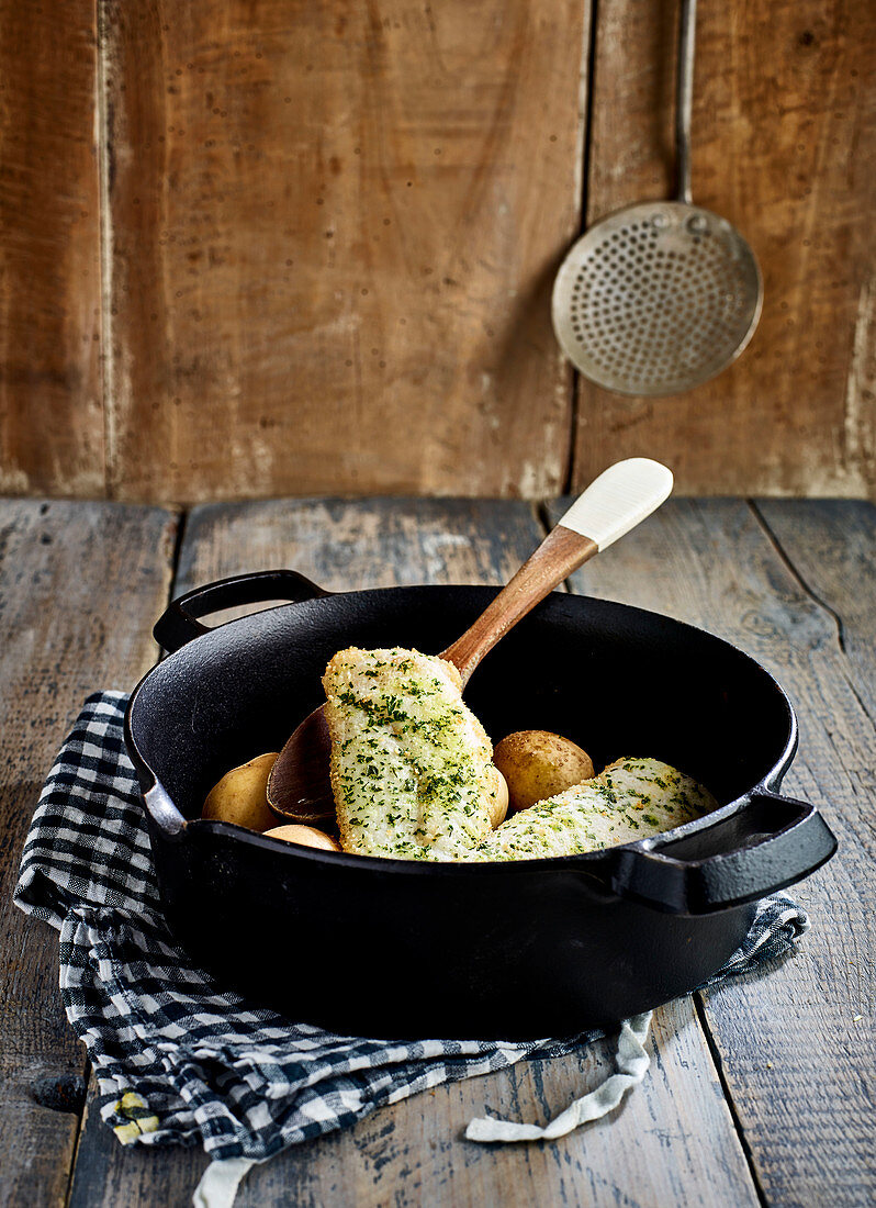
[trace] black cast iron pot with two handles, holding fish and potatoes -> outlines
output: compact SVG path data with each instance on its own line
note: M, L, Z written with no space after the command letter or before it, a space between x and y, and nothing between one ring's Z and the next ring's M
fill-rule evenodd
M128 750L167 918L254 1001L378 1036L540 1036L610 1027L690 991L746 935L758 898L828 860L820 815L778 794L796 719L725 641L667 617L555 593L485 660L466 701L493 741L567 734L597 767L665 760L721 808L587 855L420 864L340 855L201 821L231 767L279 750L348 645L445 649L495 594L330 594L290 570L190 592L155 628L170 656L134 692ZM214 629L197 620L294 603Z

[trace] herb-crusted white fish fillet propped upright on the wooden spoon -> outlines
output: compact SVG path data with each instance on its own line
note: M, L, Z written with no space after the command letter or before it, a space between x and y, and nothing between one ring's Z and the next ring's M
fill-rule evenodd
M417 650L350 647L323 686L344 852L471 858L491 830L497 783L457 668Z

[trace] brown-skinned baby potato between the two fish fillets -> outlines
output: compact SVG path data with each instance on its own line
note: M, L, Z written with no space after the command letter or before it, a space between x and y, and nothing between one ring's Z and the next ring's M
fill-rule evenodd
M569 738L549 730L509 734L495 748L493 762L507 782L512 814L593 776L590 755Z

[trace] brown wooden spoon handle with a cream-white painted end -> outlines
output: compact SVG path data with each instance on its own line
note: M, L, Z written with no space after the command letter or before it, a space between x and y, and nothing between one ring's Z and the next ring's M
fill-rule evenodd
M442 651L441 657L459 670L463 686L521 617L573 570L650 516L671 490L672 472L643 457L617 461L594 478L486 612Z

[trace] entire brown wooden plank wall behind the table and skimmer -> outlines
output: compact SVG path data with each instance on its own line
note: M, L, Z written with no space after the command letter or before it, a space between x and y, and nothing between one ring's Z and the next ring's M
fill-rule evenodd
M876 10L698 7L695 197L766 301L646 401L549 297L582 215L671 188L677 0L0 0L0 490L535 498L648 452L876 492Z

